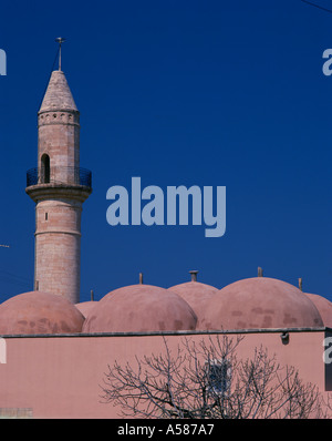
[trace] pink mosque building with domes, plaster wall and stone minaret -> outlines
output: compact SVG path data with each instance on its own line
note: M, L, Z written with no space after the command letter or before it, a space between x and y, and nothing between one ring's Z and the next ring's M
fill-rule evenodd
M264 345L303 380L332 390L323 361L332 302L261 273L221 289L196 270L168 288L141 277L80 302L81 215L92 173L80 167L80 112L60 66L38 112L38 166L25 192L35 204L34 290L0 305L0 417L117 418L100 400L107 365L156 352L165 336L175 347L183 336L243 335L242 356Z

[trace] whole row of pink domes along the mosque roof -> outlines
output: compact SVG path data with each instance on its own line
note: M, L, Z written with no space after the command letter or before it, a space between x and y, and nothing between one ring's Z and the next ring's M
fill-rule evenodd
M0 305L0 335L163 332L332 327L332 302L282 280L253 277L222 289L197 281L168 289L125 286L73 305L30 291Z

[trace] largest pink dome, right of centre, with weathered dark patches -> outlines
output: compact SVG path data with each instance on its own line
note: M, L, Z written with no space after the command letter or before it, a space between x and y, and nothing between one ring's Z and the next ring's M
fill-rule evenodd
M293 285L267 277L226 286L211 299L201 319L204 329L321 327L314 304Z

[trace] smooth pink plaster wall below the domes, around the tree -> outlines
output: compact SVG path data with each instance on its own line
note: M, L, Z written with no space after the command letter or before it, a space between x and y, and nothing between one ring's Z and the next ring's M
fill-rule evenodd
M170 347L179 336L167 336ZM207 338L191 335L193 339ZM280 332L248 334L239 353L249 357L255 347L269 348L281 365L300 370L304 381L324 389L323 331L290 332L282 345ZM0 409L32 408L33 418L118 418L111 404L100 402L107 363L132 361L164 348L162 336L11 337L7 363L0 363Z

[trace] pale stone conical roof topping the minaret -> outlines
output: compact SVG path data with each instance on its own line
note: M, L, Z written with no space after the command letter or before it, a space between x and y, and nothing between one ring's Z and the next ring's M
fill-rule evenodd
M62 71L53 71L40 112L55 110L77 111L66 78Z

